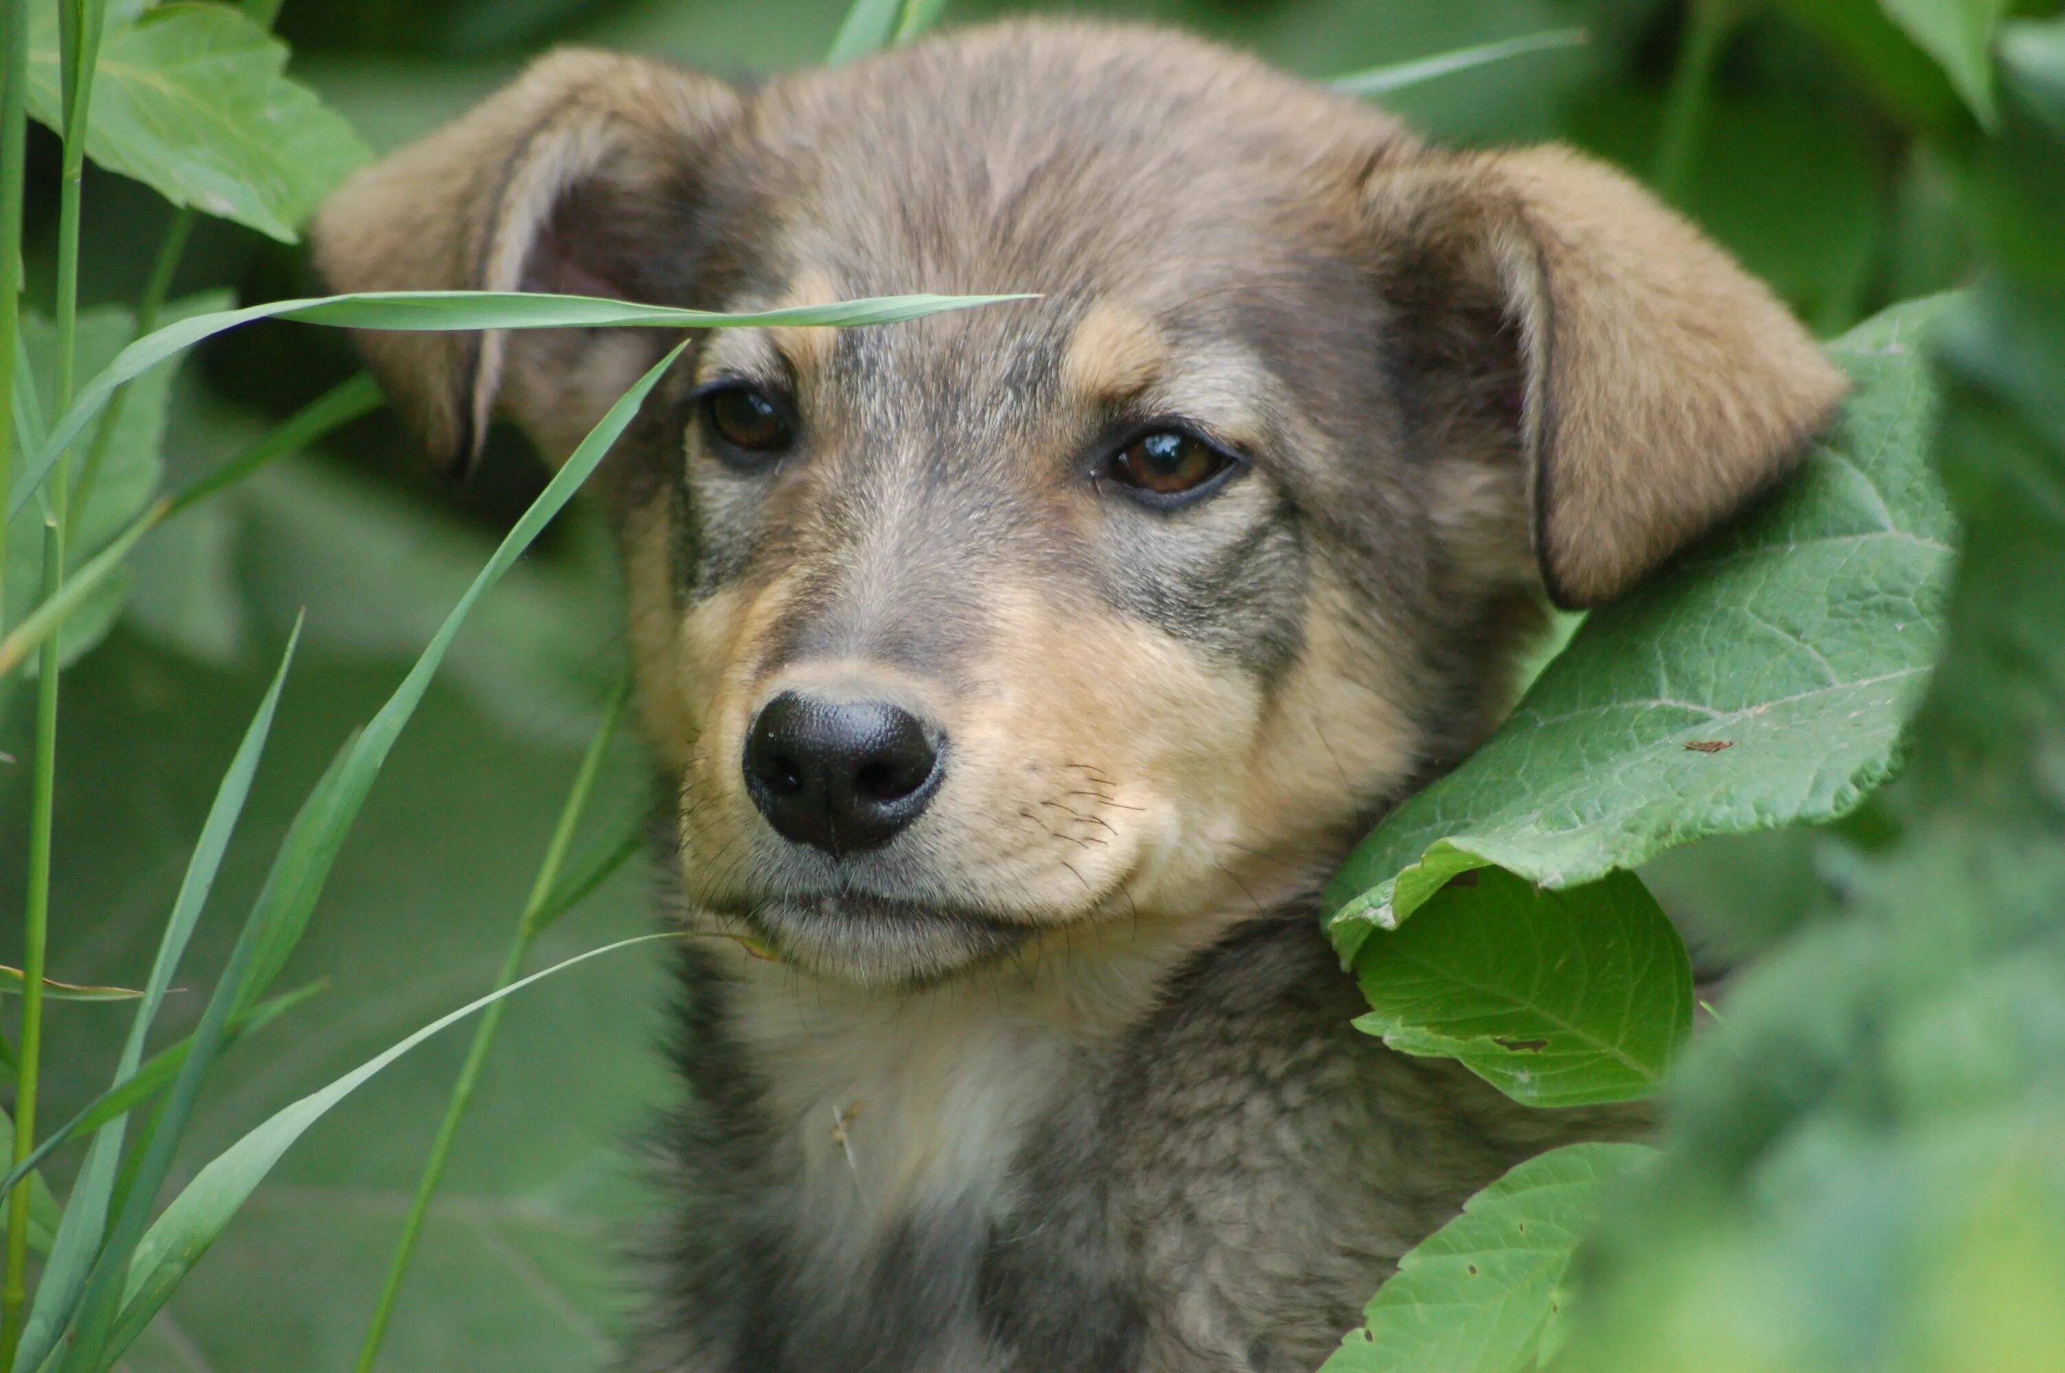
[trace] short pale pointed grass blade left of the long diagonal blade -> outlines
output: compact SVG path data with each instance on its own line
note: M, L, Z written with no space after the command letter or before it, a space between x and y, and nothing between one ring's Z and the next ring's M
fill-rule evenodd
M244 816L244 801L250 797L252 776L258 772L264 741L273 733L279 694L287 685L287 669L293 665L293 650L299 642L301 624L297 619L293 634L287 636L287 650L281 654L279 671L273 673L273 685L266 688L264 700L258 702L258 712L244 729L244 741L237 743L237 752L229 760L229 770L223 772L223 780L215 789L215 801L209 803L209 816L186 863L186 875L180 880L180 894L171 902L165 933L159 935L157 958L151 962L142 1001L130 1018L128 1039L122 1043L122 1055L116 1059L118 1088L136 1076L145 1041L151 1034L151 1022L157 1020L157 1012L165 1001L165 989L171 987L171 977L194 935L194 925L200 923L200 911L209 902L209 892L215 890L215 873L221 871L229 836ZM122 1164L124 1125L126 1117L114 1117L95 1133L93 1144L87 1148L78 1181L72 1185L70 1202L64 1208L58 1243L52 1249L50 1264L43 1268L43 1280L35 1290L35 1307L21 1336L17 1361L8 1365L10 1369L35 1369L41 1365L85 1295L93 1257L99 1253L107 1228L107 1204Z

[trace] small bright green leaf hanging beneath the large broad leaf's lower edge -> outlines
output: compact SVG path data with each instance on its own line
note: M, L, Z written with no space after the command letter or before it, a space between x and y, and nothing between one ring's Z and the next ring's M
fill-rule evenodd
M1355 977L1371 1005L1359 1030L1530 1107L1648 1096L1691 1041L1691 962L1633 873L1567 892L1464 873L1363 944Z

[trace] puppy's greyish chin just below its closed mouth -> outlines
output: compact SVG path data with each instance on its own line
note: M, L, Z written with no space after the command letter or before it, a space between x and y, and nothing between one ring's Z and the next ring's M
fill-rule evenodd
M785 896L739 913L785 962L876 989L913 989L1010 956L1035 931L884 896Z

